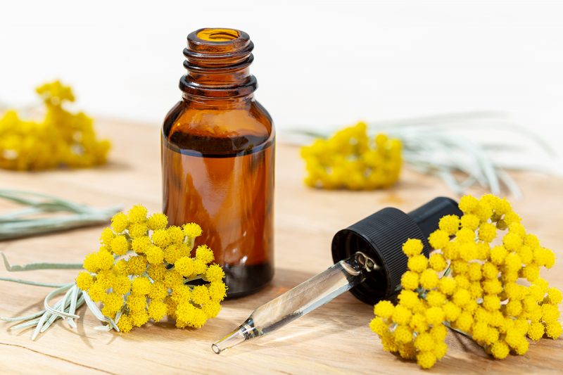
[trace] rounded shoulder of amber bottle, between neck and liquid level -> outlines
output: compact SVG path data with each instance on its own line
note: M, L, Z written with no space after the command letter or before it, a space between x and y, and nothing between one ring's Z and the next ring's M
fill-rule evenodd
M272 143L274 125L258 101L235 108L202 107L179 101L166 115L163 138L180 151L246 153Z

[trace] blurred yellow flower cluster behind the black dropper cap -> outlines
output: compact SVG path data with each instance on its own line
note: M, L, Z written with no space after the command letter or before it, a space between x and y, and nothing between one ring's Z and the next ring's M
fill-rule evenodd
M308 174L305 184L322 189L387 188L399 178L401 147L398 139L385 134L369 139L367 125L358 122L301 148Z

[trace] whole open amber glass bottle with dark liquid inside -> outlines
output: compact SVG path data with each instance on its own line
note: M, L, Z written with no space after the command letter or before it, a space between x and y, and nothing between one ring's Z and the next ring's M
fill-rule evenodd
M274 126L254 98L252 50L239 30L189 34L182 101L162 132L163 210L170 224L201 225L229 297L274 274Z

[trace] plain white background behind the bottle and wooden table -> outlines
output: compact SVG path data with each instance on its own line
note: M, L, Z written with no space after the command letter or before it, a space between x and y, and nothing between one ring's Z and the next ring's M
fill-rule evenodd
M2 1L0 102L61 78L77 106L160 126L186 35L245 30L281 132L499 110L559 148L562 1ZM559 155L562 155L559 151Z

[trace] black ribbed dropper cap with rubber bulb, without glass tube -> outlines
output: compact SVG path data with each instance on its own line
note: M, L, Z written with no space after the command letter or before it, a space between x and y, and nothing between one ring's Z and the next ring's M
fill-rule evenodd
M400 277L407 270L403 243L407 239L419 239L428 257L428 236L438 229L438 221L445 215L461 216L462 212L453 199L438 197L408 214L397 208L384 208L338 231L332 239L335 263L362 251L379 266L350 292L370 305L393 297L400 289Z

